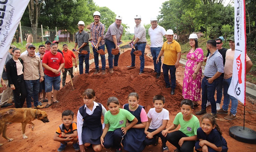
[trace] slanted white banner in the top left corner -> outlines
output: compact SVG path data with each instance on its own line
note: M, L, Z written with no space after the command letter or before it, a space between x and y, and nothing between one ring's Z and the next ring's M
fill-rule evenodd
M7 53L29 0L0 0L0 78Z

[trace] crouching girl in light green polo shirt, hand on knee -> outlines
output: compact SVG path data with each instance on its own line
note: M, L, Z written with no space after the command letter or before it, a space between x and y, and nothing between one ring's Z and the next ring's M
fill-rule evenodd
M112 147L116 149L116 152L121 152L123 136L138 120L129 111L119 108L119 101L116 97L109 97L107 106L109 111L104 116L105 128L101 135L101 145L106 149ZM126 126L127 120L131 123Z

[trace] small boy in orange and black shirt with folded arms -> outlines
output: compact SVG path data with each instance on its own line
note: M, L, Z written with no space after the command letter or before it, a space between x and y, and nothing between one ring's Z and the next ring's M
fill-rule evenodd
M79 145L77 144L77 124L74 121L74 112L66 110L62 112L62 124L58 127L53 140L60 142L58 152L63 152L68 142L73 142L73 148L76 152L79 151Z

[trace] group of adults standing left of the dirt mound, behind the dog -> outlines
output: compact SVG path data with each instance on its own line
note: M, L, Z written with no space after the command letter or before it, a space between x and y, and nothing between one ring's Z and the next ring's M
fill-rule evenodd
M16 46L10 46L2 76L6 84L0 102L2 108L13 105L7 103L11 96L14 98L15 108L22 108L25 100L27 108L31 108L31 102L34 101L34 106L38 109L49 108L53 103L59 102L56 98L60 90L60 72L63 72L64 87L67 72L71 78L74 77L72 58L76 67L77 59L73 51L68 49L67 44L63 44L63 51L58 49L58 44L58 41L52 43L47 40L45 45L38 47L38 53L32 43L26 44L26 51L23 53ZM42 100L39 100L41 96ZM42 106L41 101L48 103Z

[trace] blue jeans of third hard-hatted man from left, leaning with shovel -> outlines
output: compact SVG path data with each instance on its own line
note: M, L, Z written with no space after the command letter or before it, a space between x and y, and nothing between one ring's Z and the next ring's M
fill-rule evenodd
M108 50L108 65L109 65L109 69L113 68L113 58L114 58L114 66L118 66L118 59L119 59L119 55L120 52L117 55L113 55L112 52L112 48L116 48L116 45L114 42L110 41L110 40L105 40L105 44L106 44L106 48Z

